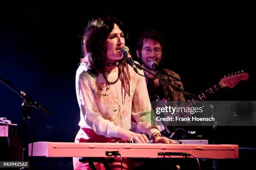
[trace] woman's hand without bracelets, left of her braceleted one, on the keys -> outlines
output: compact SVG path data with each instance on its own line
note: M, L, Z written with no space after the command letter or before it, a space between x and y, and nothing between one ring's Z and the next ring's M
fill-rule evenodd
M119 128L118 129L118 138L124 138L126 140L135 140L137 143L149 143L146 135L140 133L134 133L130 130Z

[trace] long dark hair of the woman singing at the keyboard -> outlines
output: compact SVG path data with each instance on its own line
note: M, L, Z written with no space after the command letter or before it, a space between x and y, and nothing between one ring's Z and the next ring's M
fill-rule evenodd
M127 37L123 23L115 17L100 17L88 24L83 34L81 64L86 64L89 69L96 72L103 71L103 63L107 54L105 40L113 30L114 24L118 25Z

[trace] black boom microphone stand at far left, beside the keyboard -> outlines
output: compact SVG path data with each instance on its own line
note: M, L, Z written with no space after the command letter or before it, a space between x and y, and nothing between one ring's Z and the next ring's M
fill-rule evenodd
M27 157L28 157L28 154L27 154L28 153L27 129L28 129L28 120L30 120L29 112L31 112L32 108L35 107L40 112L44 113L44 115L46 115L47 117L50 117L51 113L48 112L46 109L44 109L44 107L41 107L41 105L39 105L36 101L27 97L26 92L19 91L18 89L16 89L13 85L10 84L9 81L3 80L3 78L0 77L0 82L2 82L5 86L9 87L11 90L13 90L13 92L15 92L20 97L20 99L23 100L22 105L21 105L23 116L24 116L24 144L23 144L23 149L22 149L22 162L23 162L23 161L26 161ZM33 152L33 145L32 145L31 151ZM24 167L22 167L20 169L24 169Z

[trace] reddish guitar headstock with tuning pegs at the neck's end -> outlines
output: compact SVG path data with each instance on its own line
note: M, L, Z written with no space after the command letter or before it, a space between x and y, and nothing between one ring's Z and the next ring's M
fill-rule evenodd
M223 86L223 87L230 87L230 88L233 88L236 86L236 84L240 81L240 80L248 80L249 78L249 75L246 73L246 72L243 72L243 71L238 71L238 72L235 72L235 74L231 74L231 75L228 75L227 77L224 76L224 78L221 79L220 81L220 84Z

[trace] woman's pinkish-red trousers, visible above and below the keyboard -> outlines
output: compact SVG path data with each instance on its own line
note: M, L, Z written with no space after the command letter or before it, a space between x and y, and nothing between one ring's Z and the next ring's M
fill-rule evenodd
M106 138L102 135L97 135L93 130L87 128L81 128L76 136L75 143L90 142L90 143L110 143L111 140L121 140L120 138ZM123 170L133 169L132 158L122 158ZM74 170L91 170L89 163L80 163L77 157L73 158ZM94 163L97 170L105 170L102 163ZM115 157L113 163L108 164L111 170L120 170L121 162L119 157Z

